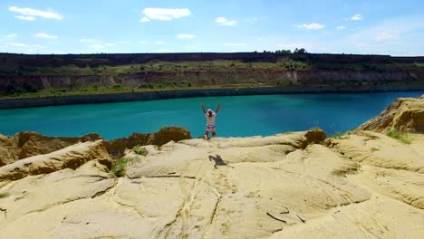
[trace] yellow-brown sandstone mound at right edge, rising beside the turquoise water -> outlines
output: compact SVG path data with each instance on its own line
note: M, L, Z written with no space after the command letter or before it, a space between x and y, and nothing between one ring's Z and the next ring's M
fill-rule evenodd
M421 98L399 98L375 118L356 130L385 131L396 129L403 132L424 133L424 95Z

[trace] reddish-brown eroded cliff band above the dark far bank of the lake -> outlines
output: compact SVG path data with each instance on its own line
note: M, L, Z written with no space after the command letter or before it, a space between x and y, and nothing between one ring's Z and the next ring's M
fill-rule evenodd
M142 72L120 76L11 76L0 79L0 92L8 85L24 87L34 85L38 90L79 89L84 87L238 87L252 86L316 86L361 88L390 84L424 83L424 72Z

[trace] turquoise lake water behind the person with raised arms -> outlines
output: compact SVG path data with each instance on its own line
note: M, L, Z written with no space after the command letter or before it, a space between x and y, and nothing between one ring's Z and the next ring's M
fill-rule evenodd
M0 134L32 130L48 136L82 136L95 132L105 139L116 139L132 132L181 126L198 137L204 134L206 124L200 102L215 110L220 101L218 137L265 136L313 127L332 135L360 126L396 98L422 94L423 91L257 95L0 110Z

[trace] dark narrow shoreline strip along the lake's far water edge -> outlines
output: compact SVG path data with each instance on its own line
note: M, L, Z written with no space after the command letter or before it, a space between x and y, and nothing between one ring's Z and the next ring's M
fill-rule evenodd
M374 93L386 91L424 91L424 82L410 84L361 85L361 86L291 86L291 87L247 87L220 89L187 89L166 91L139 91L119 93L90 93L81 95L48 96L34 98L0 99L0 110L63 106L74 104L96 104L140 100L166 100L194 97L303 94L303 93ZM424 92L423 92L424 94Z

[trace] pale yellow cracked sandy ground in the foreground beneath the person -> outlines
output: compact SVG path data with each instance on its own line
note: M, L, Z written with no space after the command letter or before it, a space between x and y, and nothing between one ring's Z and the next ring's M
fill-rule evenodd
M420 238L424 138L357 130L88 141L0 167L0 238ZM72 163L71 163L72 162Z

